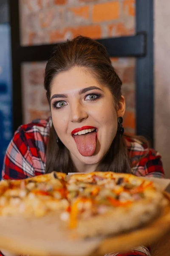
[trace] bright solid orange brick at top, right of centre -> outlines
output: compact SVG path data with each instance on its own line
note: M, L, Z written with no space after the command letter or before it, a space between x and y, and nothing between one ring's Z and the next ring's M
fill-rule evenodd
M120 16L120 5L118 1L110 3L94 4L92 12L93 22L117 20Z

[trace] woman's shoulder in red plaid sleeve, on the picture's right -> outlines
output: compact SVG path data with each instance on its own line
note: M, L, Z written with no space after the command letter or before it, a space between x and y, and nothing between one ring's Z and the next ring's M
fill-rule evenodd
M137 176L164 177L161 155L140 138L126 137L127 152L132 172Z

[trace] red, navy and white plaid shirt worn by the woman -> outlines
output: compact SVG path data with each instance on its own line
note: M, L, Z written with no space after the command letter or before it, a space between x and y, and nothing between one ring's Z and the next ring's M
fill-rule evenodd
M47 120L34 120L17 129L4 158L3 179L25 179L45 173L45 151L51 124L50 117ZM125 140L134 175L164 177L161 156L158 152L153 149L148 151L147 146L136 139L125 137ZM150 252L145 247L138 247L130 253L109 255L150 256Z

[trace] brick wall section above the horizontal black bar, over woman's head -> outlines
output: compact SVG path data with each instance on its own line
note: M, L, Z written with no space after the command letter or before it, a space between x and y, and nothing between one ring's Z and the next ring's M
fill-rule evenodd
M20 0L21 44L131 35L135 0Z

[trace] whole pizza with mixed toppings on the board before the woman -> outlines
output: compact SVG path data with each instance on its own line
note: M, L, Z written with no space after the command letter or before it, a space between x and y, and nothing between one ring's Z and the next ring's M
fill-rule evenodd
M52 172L0 182L0 215L40 218L53 213L82 238L132 230L159 216L167 204L152 181L131 174Z

